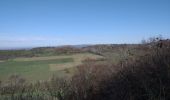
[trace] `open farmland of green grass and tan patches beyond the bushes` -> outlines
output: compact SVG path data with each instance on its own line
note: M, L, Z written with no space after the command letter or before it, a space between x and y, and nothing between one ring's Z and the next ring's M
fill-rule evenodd
M72 75L75 66L82 64L86 58L98 59L101 56L82 53L66 56L46 56L32 58L15 58L0 62L0 80L6 80L17 74L29 81L47 80L57 74L59 77Z

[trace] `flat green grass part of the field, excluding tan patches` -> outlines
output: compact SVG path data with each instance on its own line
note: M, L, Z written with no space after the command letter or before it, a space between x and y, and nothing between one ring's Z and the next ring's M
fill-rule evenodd
M31 80L47 79L52 73L49 64L73 62L72 58L50 59L41 61L5 61L0 63L0 79L19 74Z

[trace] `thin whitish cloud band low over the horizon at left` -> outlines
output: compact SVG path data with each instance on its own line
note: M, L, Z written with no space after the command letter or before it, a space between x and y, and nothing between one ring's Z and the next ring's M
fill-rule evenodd
M57 37L0 37L1 48L56 46L63 39Z

